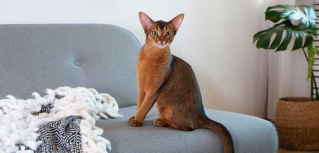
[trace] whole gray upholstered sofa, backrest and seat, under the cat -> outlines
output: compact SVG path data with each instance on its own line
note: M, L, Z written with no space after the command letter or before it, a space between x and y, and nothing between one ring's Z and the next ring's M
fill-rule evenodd
M223 153L220 137L211 130L155 126L156 106L142 127L129 126L128 118L137 109L135 64L140 48L129 31L110 24L0 25L0 99L7 94L31 98L34 91L60 86L93 87L112 95L124 115L97 122L112 153ZM278 136L271 122L219 110L205 112L229 130L235 153L277 152Z

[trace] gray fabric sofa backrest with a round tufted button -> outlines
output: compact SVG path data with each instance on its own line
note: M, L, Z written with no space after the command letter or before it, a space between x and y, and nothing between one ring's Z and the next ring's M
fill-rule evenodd
M136 105L140 48L110 24L0 25L0 99L81 86L112 95L119 107Z

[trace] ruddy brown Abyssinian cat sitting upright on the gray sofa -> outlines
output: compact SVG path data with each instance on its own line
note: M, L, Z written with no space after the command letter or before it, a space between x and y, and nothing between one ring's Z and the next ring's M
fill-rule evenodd
M222 138L225 153L233 153L232 138L227 129L205 115L191 66L170 52L170 44L182 24L184 14L168 22L154 22L143 12L139 12L139 18L146 41L136 64L137 113L130 117L130 126L142 126L146 114L156 102L160 118L154 121L155 125L183 131L211 129Z

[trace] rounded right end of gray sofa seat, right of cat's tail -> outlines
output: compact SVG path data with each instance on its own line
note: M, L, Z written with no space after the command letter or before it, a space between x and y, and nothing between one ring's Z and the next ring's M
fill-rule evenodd
M205 109L212 120L223 124L233 138L235 153L277 153L278 135L271 122L249 115Z

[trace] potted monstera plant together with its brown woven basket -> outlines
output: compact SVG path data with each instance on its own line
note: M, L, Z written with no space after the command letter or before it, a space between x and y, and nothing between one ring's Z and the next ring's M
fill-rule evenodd
M301 49L304 52L308 62L306 80L311 80L310 98L284 97L278 100L275 125L279 145L292 150L317 150L319 149L319 96L312 67L315 54L319 55L313 40L313 36L318 35L316 27L316 23L319 23L318 18L313 8L307 5L275 5L267 8L265 20L276 24L254 35L253 43L257 41L256 47L278 52L287 50L289 43L293 42L291 51Z

